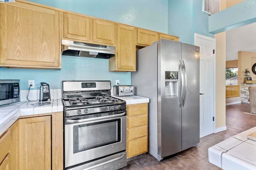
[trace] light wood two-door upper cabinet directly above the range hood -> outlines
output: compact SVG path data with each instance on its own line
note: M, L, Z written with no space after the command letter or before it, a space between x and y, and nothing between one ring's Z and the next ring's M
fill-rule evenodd
M63 12L63 39L95 43L116 44L116 24L108 20Z

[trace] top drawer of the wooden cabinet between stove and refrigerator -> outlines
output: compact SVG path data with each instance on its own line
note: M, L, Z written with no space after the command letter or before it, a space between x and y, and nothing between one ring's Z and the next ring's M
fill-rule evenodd
M148 103L141 103L136 105L127 105L128 116L148 114Z

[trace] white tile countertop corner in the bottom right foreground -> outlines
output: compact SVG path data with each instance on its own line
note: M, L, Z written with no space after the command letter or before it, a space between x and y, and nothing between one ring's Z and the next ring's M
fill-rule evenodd
M256 127L208 148L209 162L223 170L255 170L256 141L247 137L253 132Z

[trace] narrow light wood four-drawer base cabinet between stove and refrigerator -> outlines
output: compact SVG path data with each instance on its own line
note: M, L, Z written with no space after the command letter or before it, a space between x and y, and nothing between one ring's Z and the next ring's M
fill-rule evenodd
M148 152L148 103L127 105L127 158Z

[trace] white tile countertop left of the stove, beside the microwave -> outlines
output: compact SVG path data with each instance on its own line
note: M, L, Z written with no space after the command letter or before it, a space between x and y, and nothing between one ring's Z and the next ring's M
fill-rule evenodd
M53 99L49 105L33 106L32 104L34 103L37 103L37 101L20 101L8 105L0 105L0 135L20 116L63 111L61 99Z

